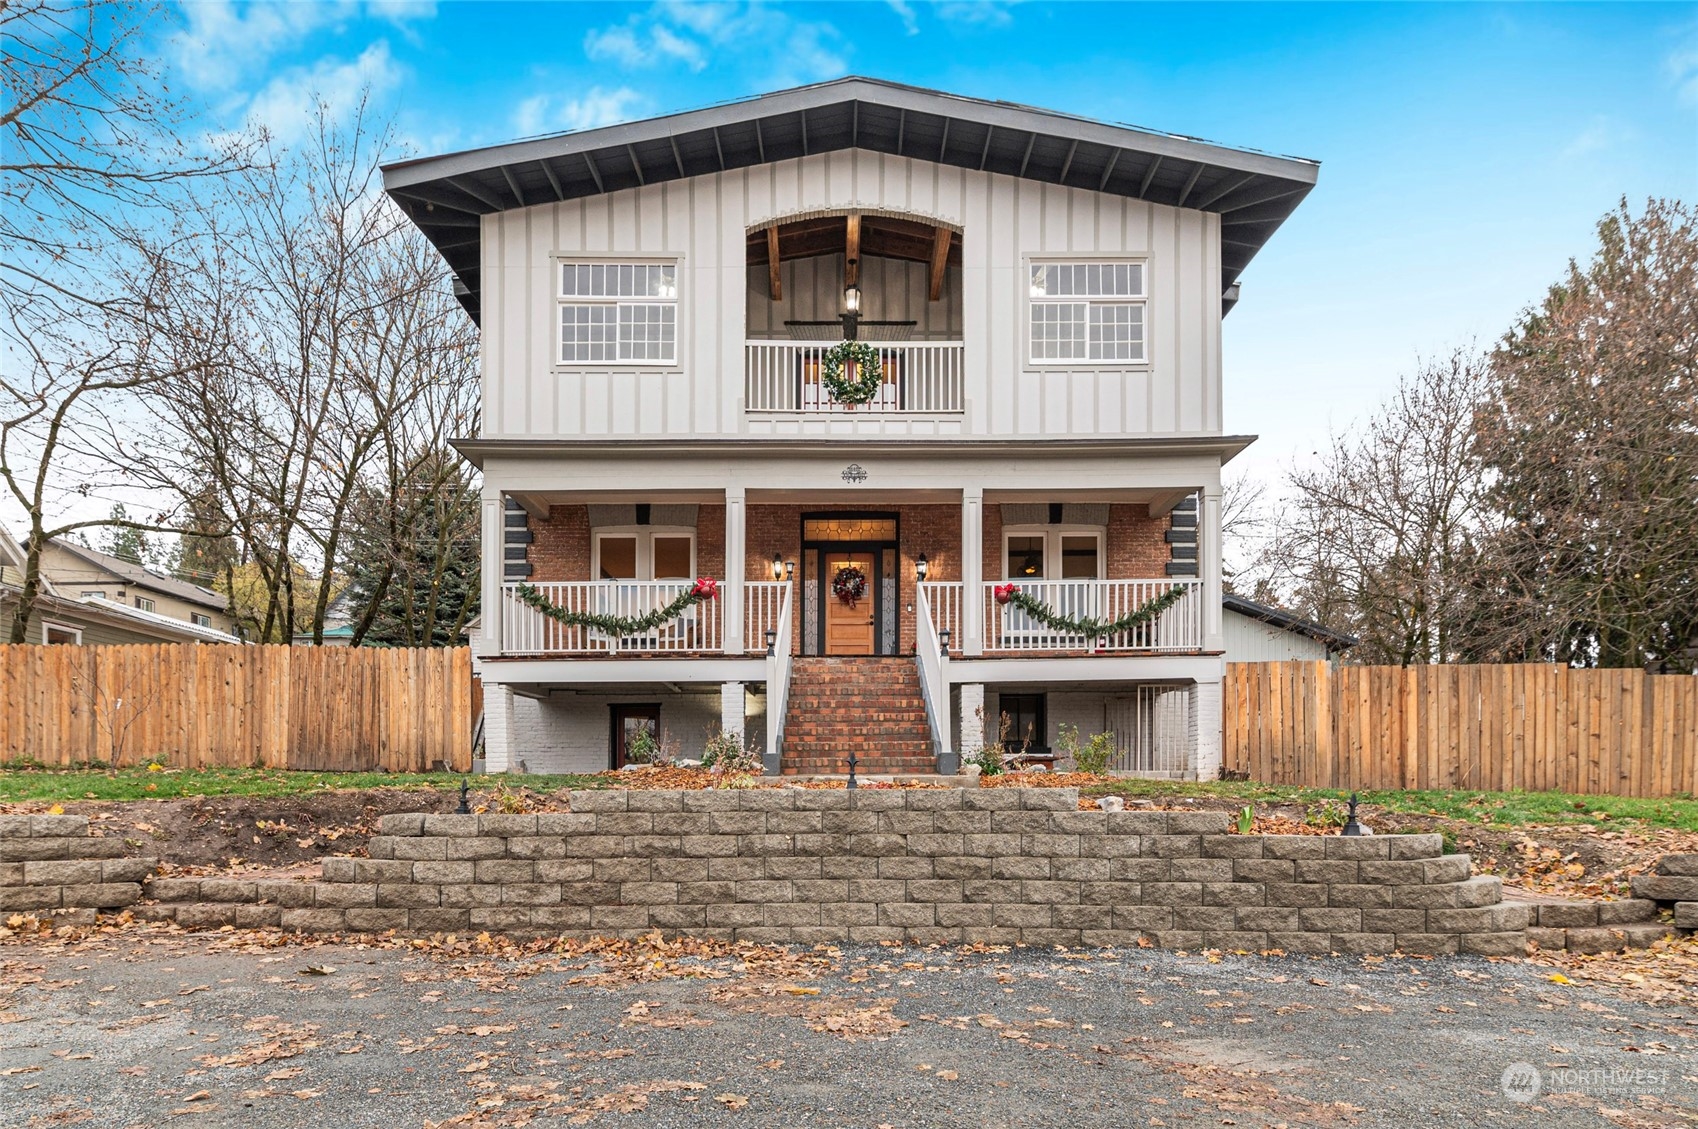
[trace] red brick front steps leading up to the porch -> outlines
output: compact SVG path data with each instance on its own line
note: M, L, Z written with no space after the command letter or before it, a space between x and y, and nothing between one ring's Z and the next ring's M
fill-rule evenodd
M914 659L796 659L784 715L786 776L936 772Z

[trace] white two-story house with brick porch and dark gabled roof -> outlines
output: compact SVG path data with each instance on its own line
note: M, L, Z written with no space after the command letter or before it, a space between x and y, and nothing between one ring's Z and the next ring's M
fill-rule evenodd
M1221 317L1316 171L864 78L385 168L482 326L489 769L1214 776Z

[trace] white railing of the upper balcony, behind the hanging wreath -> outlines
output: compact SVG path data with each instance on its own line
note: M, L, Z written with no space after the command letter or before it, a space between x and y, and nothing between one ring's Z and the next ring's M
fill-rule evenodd
M961 341L864 341L878 350L881 382L866 404L839 404L820 382L832 341L749 341L744 407L791 413L958 413L963 409ZM851 365L851 372L852 372Z

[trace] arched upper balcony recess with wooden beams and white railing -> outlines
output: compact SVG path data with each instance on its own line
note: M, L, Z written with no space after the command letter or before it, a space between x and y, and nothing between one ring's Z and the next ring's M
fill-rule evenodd
M744 409L751 414L959 416L961 233L886 214L808 216L747 241ZM835 399L827 353L859 340L878 351L878 390ZM847 374L854 377L851 362Z

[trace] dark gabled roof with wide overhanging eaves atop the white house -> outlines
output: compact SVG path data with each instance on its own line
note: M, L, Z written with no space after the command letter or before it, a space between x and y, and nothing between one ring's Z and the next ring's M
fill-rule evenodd
M876 78L839 78L623 126L384 166L479 314L481 216L810 153L871 149L1219 212L1228 307L1238 275L1314 187L1318 161L1094 122Z

